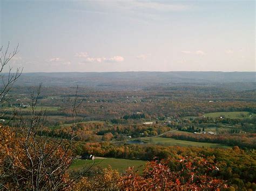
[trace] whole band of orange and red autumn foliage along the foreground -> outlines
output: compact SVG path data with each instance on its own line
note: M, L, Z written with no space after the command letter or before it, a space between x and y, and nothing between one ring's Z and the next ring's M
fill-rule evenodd
M143 174L133 168L120 174L109 167L93 178L83 177L74 185L69 171L63 171L70 165L71 153L65 154L62 146L48 142L42 157L41 143L35 143L33 138L27 140L19 133L8 126L0 127L0 180L5 189L196 190L226 187L223 180L210 176L210 172L218 168L199 157L176 160L175 167L171 167L171 160L153 160L147 162ZM25 146L28 143L30 147ZM59 165L60 160L62 165Z

